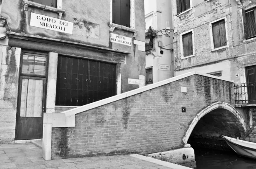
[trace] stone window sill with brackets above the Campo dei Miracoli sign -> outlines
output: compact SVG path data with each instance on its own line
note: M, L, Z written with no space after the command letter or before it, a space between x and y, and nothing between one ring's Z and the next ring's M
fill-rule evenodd
M28 1L28 0L23 0L22 4L24 6L24 11L28 10L28 6L33 6L33 7L36 7L36 8L41 8L43 10L47 10L47 11L52 11L52 12L58 13L58 19L61 19L62 14L65 12L65 10L63 10L63 9L53 8L51 6L42 5L40 3L34 3L34 2Z

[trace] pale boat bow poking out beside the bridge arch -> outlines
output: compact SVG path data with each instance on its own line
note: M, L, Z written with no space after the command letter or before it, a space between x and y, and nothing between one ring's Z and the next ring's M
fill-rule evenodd
M222 135L227 144L239 155L256 159L256 143Z

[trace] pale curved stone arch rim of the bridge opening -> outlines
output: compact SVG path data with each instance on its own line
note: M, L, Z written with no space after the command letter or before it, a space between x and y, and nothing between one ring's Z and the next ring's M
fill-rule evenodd
M198 121L204 116L207 115L207 113L211 112L212 110L215 110L217 108L223 108L226 110L229 110L234 116L236 116L236 119L241 123L244 131L246 131L246 124L244 122L244 118L241 116L241 114L230 104L222 102L222 101L217 101L215 103L210 104L203 110L201 110L193 119L192 123L189 125L189 129L186 131L185 136L183 137L183 143L187 144L187 141L192 133L192 131L195 128L195 125L198 123Z

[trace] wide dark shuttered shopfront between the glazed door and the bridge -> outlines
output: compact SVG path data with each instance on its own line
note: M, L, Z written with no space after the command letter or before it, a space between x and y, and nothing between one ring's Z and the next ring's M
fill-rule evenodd
M82 106L116 95L116 65L58 57L56 105Z

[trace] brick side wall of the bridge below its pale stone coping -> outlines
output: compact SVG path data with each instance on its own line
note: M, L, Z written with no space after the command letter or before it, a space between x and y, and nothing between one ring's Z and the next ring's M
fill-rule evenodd
M76 127L52 128L52 159L180 148L195 115L216 101L234 105L233 83L192 75L87 110L76 114Z

